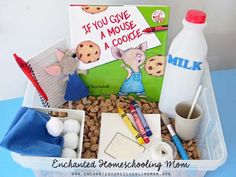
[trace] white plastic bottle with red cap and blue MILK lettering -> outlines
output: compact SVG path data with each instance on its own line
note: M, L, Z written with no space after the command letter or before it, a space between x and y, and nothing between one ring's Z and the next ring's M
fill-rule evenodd
M189 10L182 31L171 43L159 102L169 117L174 117L176 104L193 100L199 86L207 55L205 20L205 12Z

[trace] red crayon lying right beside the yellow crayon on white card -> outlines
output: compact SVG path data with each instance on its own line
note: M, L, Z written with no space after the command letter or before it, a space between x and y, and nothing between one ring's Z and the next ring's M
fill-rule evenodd
M137 126L139 132L141 133L141 135L143 137L144 142L146 144L148 144L150 142L150 140L149 140L148 136L146 135L143 124L142 124L142 122L141 122L141 120L140 120L140 118L139 118L139 116L138 116L138 114L137 114L137 112L136 112L136 110L135 110L135 108L132 104L130 105L130 112L131 112L131 114L134 118L134 121L136 123L136 126Z

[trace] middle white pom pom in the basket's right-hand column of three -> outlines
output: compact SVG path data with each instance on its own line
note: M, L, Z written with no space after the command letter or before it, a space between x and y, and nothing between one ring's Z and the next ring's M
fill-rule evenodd
M69 132L64 135L64 148L76 149L78 147L79 137L75 132Z

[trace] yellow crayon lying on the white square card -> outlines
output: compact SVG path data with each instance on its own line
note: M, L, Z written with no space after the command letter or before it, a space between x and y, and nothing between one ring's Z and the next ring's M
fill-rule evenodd
M127 127L129 128L129 130L132 132L134 137L137 139L138 143L144 144L144 140L143 140L141 134L134 127L133 123L130 121L129 117L126 115L126 113L123 111L123 109L118 107L118 112L119 112L121 118L123 119L123 121L125 122L125 124L127 125Z

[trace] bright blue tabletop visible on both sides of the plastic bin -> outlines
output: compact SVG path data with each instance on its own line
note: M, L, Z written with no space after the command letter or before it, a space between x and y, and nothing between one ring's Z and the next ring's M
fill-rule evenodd
M236 108L236 70L214 71L211 73L211 77L227 146L228 158L223 166L215 171L208 172L206 177L235 177L236 139L233 132L234 126L236 125L236 118L233 111ZM18 98L0 102L0 140L7 131L7 128L21 106L22 101L23 98ZM33 177L34 174L31 170L24 169L16 164L12 160L9 151L0 148L0 177L13 176Z

